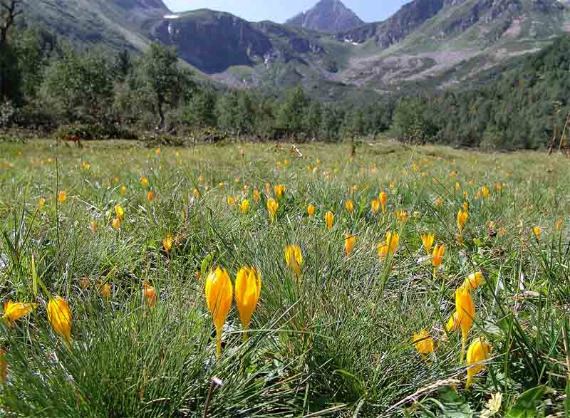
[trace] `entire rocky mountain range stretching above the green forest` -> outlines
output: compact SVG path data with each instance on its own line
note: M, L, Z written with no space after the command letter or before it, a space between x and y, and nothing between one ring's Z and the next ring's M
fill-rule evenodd
M322 0L286 25L208 9L172 14L162 0L24 6L27 21L75 43L143 51L159 41L200 76L239 88L304 85L326 101L465 85L570 31L566 0L413 0L385 21L363 24L340 1Z

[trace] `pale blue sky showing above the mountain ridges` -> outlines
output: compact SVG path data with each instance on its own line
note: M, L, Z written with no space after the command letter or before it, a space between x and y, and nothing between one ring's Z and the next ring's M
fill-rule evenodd
M164 0L172 11L214 9L229 11L249 21L271 20L282 23L300 11L311 9L318 0ZM347 7L363 21L381 21L410 0L346 0Z

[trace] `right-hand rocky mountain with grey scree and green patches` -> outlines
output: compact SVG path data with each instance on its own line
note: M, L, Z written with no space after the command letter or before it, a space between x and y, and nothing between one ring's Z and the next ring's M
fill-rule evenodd
M414 0L386 21L337 35L359 50L341 78L383 91L460 85L569 29L558 0Z

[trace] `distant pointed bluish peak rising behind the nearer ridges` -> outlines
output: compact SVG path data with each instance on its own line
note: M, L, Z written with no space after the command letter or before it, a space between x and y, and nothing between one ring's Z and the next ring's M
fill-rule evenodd
M323 33L337 33L361 26L364 22L340 0L321 0L312 9L298 14L285 24Z

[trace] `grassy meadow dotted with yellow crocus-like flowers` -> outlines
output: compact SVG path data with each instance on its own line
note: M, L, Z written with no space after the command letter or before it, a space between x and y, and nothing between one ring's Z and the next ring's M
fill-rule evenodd
M570 166L0 144L0 417L569 417Z

